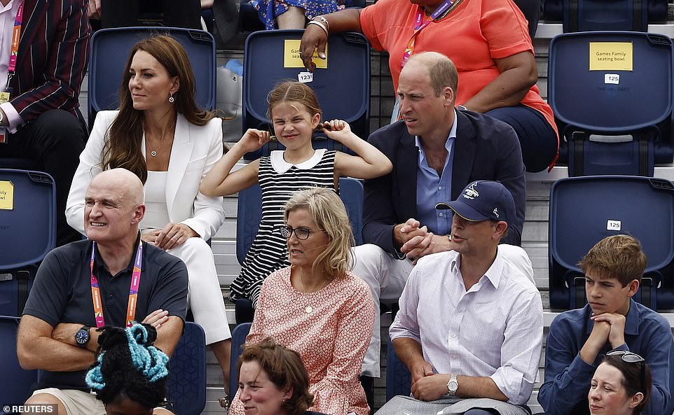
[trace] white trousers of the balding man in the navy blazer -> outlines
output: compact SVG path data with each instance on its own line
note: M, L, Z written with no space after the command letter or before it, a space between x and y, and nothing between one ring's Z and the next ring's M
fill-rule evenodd
M509 259L522 274L534 283L534 272L526 251L514 245L501 244L498 247L504 258ZM370 287L375 307L372 338L363 360L362 374L380 377L381 317L379 303L398 302L413 265L411 260L393 258L382 248L373 244L356 246L353 251L355 258L353 274L359 276Z

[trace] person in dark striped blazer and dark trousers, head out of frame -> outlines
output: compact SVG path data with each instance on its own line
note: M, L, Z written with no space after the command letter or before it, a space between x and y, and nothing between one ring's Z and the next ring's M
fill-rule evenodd
M36 163L56 183L57 245L81 239L64 215L87 129L79 92L89 62L90 26L85 0L0 0L0 157ZM8 76L15 17L22 5L16 69ZM8 85L7 85L8 84Z

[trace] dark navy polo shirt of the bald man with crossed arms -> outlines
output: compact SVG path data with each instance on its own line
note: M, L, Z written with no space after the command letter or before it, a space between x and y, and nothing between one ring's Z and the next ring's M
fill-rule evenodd
M45 321L77 323L96 327L91 298L91 241L77 241L47 254L40 265L23 314ZM94 260L106 325L124 327L129 288L137 246L126 269L112 276L99 258ZM98 251L98 249L97 249ZM143 242L141 281L138 289L136 319L142 321L152 311L163 309L169 316L185 319L187 309L187 268L179 258ZM86 371L41 371L41 388L88 391Z

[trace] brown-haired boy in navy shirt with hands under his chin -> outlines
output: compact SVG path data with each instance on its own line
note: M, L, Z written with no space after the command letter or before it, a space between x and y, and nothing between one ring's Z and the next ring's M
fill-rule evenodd
M619 349L642 356L653 375L644 415L672 414L674 342L663 316L632 300L646 267L638 240L606 237L580 261L587 304L550 325L545 381L538 402L549 415L589 414L590 381L603 355Z

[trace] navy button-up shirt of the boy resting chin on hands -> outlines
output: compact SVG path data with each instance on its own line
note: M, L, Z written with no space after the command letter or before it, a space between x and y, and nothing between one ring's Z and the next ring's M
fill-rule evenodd
M589 414L587 393L601 358L612 349L607 342L592 365L580 357L594 322L589 304L565 311L550 325L545 344L545 381L538 402L549 415ZM674 342L666 319L630 300L625 321L625 344L617 349L631 351L646 360L653 377L651 398L644 415L671 414L674 409Z

